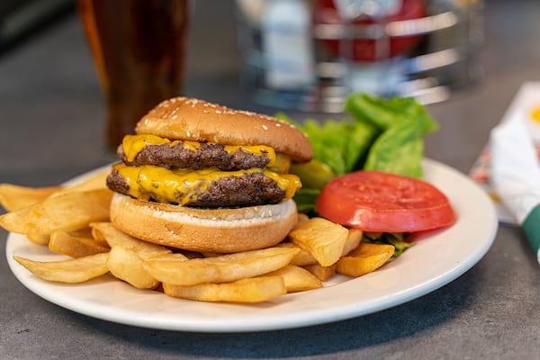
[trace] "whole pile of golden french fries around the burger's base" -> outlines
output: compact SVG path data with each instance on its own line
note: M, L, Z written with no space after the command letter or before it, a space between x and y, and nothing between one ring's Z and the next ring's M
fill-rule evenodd
M133 238L109 222L112 192L98 174L73 186L0 184L4 229L67 256L35 261L14 256L33 275L76 284L114 276L139 289L203 302L264 302L317 289L335 274L361 276L392 257L392 245L362 242L363 233L299 214L275 247L235 254L201 254Z

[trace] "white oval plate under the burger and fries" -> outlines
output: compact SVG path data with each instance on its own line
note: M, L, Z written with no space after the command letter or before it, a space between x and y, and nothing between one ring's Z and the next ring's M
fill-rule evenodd
M356 279L336 276L322 289L256 305L184 301L107 278L75 285L48 283L31 275L12 257L62 257L17 234L9 235L6 255L17 279L43 299L94 318L144 328L237 332L350 319L436 290L464 274L491 247L497 217L488 196L451 167L425 160L424 168L426 179L453 203L458 214L454 226L418 238L416 246L372 274Z

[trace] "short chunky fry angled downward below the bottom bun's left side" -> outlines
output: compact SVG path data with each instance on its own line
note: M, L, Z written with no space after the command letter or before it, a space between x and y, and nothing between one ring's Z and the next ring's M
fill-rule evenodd
M128 248L115 246L107 258L112 275L138 289L155 289L159 282L142 267L144 260Z

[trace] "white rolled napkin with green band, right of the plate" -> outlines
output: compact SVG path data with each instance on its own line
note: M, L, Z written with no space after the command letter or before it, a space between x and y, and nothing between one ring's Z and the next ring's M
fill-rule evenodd
M540 103L540 94L536 102ZM527 126L531 109L520 104L514 102L491 130L491 186L523 229L540 263L540 165Z

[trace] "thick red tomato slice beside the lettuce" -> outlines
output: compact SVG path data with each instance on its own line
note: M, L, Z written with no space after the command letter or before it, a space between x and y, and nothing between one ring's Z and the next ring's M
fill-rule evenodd
M425 181L379 171L356 171L329 182L317 199L320 215L365 231L413 232L452 225L446 195Z

